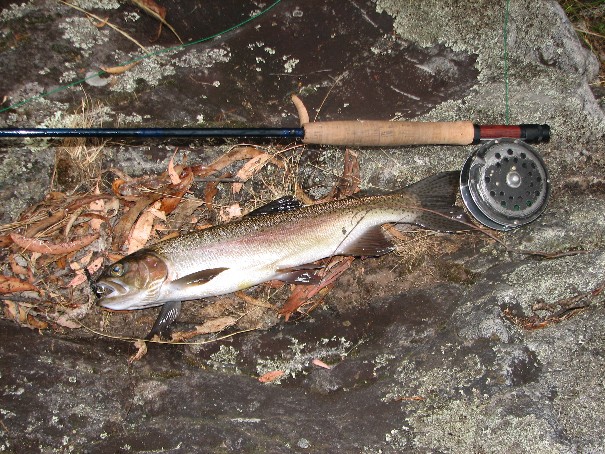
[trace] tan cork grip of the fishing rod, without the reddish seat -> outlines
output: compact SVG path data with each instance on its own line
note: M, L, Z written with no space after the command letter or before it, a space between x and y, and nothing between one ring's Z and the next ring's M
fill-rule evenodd
M320 121L302 125L304 143L351 146L469 145L470 121Z

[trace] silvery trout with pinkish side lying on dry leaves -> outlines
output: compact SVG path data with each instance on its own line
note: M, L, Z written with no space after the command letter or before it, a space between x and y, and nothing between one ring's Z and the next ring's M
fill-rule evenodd
M394 245L382 226L468 230L455 205L459 172L442 172L383 195L301 206L292 197L239 220L157 242L107 266L93 284L111 310L163 305L149 333L164 334L181 302L224 295L271 280L320 281L316 264L332 256L377 257Z

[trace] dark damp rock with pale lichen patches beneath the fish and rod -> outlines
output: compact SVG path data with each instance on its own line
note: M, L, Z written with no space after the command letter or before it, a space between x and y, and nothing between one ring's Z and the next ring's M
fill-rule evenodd
M146 51L57 2L5 3L0 101L27 102L0 112L1 127L68 126L84 96L102 103L105 126L295 127L292 93L318 120L505 122L499 2L284 0L179 50L131 3L80 1L159 53L107 84L59 91ZM196 3L162 2L185 43L268 6ZM507 26L510 121L553 129L536 146L552 185L541 218L502 243L443 237L444 250L463 247L433 253L421 268L430 273L410 275L394 255L356 262L308 317L205 345L151 345L132 363L129 342L0 320L0 450L605 451L598 64L556 2L512 2ZM230 143L179 146L204 164ZM55 189L56 149L0 142L3 223ZM357 150L362 186L392 190L460 169L472 149ZM108 144L104 165L161 172L173 153L166 141ZM305 153L301 179L321 192L343 149Z

